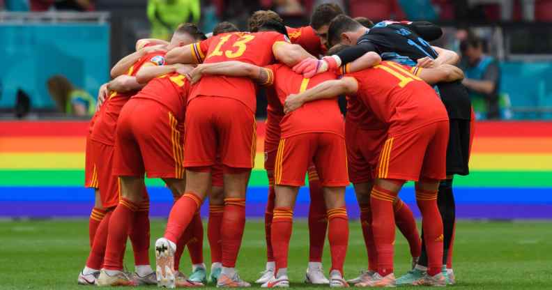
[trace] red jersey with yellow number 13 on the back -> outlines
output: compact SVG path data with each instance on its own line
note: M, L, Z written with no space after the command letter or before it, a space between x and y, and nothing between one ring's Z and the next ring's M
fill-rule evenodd
M273 46L286 41L275 31L256 33L222 33L192 45L194 57L201 63L243 61L255 66L266 66L275 61ZM247 77L204 75L192 89L189 100L197 96L218 96L243 102L252 112L256 111L256 86Z

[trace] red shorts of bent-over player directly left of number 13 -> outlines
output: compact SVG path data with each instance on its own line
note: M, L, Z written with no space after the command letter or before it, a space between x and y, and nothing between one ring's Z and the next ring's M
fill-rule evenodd
M183 130L164 105L131 98L117 121L113 174L184 178Z

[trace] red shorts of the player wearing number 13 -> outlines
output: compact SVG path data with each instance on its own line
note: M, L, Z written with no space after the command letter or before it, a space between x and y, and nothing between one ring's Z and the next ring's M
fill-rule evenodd
M256 150L256 121L251 110L232 98L200 96L186 112L185 167L222 165L251 169Z

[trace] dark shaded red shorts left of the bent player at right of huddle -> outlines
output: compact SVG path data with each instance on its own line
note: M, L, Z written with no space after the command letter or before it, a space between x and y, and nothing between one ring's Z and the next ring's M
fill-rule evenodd
M345 122L348 176L351 183L365 183L376 178L381 144L387 139L387 130L365 130L357 124Z

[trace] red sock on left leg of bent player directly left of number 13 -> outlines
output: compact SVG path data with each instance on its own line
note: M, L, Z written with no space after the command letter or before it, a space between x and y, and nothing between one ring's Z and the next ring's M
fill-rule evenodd
M138 208L139 204L121 198L112 217L109 218L109 234L104 259L104 268L107 270L123 270L124 248Z

